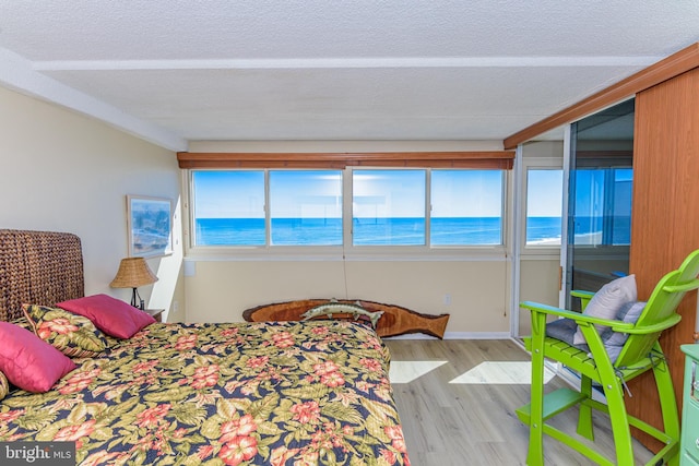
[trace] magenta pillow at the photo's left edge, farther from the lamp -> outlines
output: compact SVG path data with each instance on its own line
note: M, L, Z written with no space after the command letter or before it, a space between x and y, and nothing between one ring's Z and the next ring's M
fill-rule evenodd
M61 351L28 330L0 322L0 371L22 390L44 393L75 369Z

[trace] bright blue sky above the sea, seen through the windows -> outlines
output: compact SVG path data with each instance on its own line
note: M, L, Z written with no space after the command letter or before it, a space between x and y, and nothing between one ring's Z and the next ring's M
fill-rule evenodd
M557 170L547 170L556 172ZM199 218L263 218L261 170L194 171L194 212ZM560 215L560 172L530 186L537 215ZM342 181L337 170L271 170L273 217L340 217ZM433 170L434 217L497 217L502 206L499 170ZM354 170L354 215L420 217L424 170ZM556 191L556 189L558 191ZM558 200L558 202L555 202Z

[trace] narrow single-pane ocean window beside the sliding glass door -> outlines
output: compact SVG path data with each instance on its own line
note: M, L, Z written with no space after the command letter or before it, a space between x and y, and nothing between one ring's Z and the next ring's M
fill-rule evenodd
M564 172L526 170L526 246L560 246Z

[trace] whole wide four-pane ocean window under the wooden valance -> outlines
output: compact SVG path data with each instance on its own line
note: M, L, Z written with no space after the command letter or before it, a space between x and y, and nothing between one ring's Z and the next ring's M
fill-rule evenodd
M191 170L191 177L193 247L502 244L501 169Z

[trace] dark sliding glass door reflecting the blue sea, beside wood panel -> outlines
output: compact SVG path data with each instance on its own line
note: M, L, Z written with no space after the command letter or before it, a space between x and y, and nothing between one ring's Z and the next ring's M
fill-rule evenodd
M566 294L599 290L628 273L633 180L633 99L571 126Z

